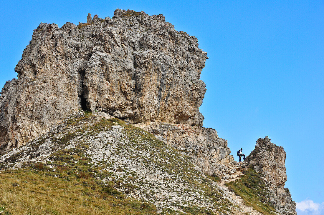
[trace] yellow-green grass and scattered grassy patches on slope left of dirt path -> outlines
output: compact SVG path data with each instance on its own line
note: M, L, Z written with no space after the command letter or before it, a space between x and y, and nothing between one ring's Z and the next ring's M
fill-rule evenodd
M91 120L91 114L81 119L71 119L67 122L67 127L75 127L78 124L87 125ZM134 143L139 144L137 139L150 141L155 145L154 147L160 149L161 156L171 158L164 151L166 148L173 150L170 146L158 141L152 134L117 119L102 119L97 121L94 126L85 126L81 130L68 133L59 139L52 136L52 143L55 147L68 145L70 140L80 137L82 134L95 135L116 124L125 126L126 135ZM31 148L37 149L47 138L49 138L48 135L38 138L31 144ZM79 139L77 143L74 148L63 149L62 147L53 152L50 156L51 162L47 164L29 163L19 170L2 170L0 172L0 190L2 191L0 193L0 212L5 210L8 214L156 214L156 207L152 203L127 198L115 189L119 186L131 186L131 184L120 185L119 180L110 182L98 180L97 178L111 177L112 173L107 171L109 168L105 164L93 165L91 158L87 155L89 145L86 142ZM31 151L30 154L32 153L34 152ZM14 155L10 159L11 161L18 160L20 156L20 154ZM176 161L176 156L172 156L172 158L175 162L180 162ZM109 166L108 163L107 165ZM183 163L183 165L185 164ZM156 163L156 167L158 166L168 172L182 172L181 168L184 167L179 166L179 163ZM192 165L188 164L187 167L193 169ZM55 168L55 172L53 168ZM196 173L188 171L182 180L203 190L199 192L208 196L214 202L213 204L223 207L220 211L228 210L228 202L220 196L217 190L208 185L211 182L206 178L200 184L192 179L194 174ZM181 209L187 214L214 214L210 210L197 208L194 205L181 207ZM163 211L163 214L168 214L168 212L182 214L179 211L170 210L170 208L163 209Z

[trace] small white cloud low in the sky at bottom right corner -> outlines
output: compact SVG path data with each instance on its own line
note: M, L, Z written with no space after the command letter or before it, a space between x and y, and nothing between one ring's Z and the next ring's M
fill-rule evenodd
M296 202L296 211L298 215L324 214L324 202L316 203L313 200L305 199L301 202Z

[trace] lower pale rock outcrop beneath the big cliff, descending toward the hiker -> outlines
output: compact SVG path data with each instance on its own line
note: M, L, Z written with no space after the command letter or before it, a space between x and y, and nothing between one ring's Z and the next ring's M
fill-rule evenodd
M154 134L174 148L186 151L187 155L193 158L197 169L208 175L220 175L220 170L225 168L223 164L234 162L227 141L219 138L216 130L212 128L150 122L135 126Z

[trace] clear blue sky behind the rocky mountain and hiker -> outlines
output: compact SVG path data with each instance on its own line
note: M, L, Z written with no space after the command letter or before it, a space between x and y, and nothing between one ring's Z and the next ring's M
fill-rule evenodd
M116 8L163 14L208 52L204 126L248 155L259 137L284 146L298 214L324 214L324 1L1 1L0 85L41 22L61 27ZM310 201L313 201L311 203ZM318 206L318 207L317 207ZM322 212L321 212L322 211Z

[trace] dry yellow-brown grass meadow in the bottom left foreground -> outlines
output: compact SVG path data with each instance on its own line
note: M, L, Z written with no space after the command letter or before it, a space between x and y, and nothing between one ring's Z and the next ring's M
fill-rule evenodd
M19 186L17 186L17 184ZM21 169L0 173L0 207L8 214L156 214L150 203L109 196L93 178L55 178Z

